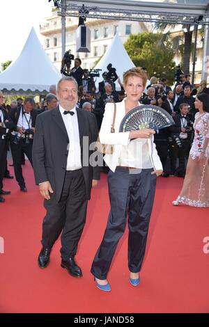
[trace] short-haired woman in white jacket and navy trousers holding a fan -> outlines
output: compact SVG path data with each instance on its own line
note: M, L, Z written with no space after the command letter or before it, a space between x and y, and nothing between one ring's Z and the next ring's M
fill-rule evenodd
M104 156L104 161L110 168L108 186L111 209L102 243L91 267L96 286L102 291L111 290L107 273L118 241L125 231L126 221L129 228L129 280L131 285L139 285L139 271L146 248L156 177L162 174L162 163L153 143L153 129L122 133L119 132L119 127L125 114L140 105L139 98L146 81L146 72L139 67L123 74L127 97L116 104L115 133L111 133L114 104L105 106L100 129L100 142L114 145L114 153Z

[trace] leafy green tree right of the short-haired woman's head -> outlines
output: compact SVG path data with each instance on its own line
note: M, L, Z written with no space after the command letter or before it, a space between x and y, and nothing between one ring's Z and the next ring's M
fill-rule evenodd
M171 42L162 42L162 33L130 34L124 46L134 65L146 67L149 77L167 77L168 83L173 84L175 52Z

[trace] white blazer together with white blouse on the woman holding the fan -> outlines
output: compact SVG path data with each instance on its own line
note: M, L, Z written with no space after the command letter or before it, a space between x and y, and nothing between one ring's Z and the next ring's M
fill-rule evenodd
M140 105L140 104L139 104ZM130 132L119 132L121 120L125 116L125 99L116 103L115 133L111 133L114 116L114 104L107 103L100 129L100 142L114 145L113 154L105 154L104 161L112 171L116 166L127 166L139 169L154 168L162 170L162 163L157 155L152 138L136 138L129 140Z

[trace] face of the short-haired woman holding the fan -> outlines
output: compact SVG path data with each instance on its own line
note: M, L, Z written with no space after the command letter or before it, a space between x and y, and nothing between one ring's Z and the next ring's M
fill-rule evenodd
M144 85L141 77L130 76L127 78L127 83L125 84L127 99L139 101L143 91Z

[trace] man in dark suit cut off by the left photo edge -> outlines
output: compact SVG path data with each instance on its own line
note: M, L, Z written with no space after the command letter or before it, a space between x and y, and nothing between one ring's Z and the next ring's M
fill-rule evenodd
M10 191L3 191L3 176L6 170L6 155L8 150L8 131L13 127L7 111L3 108L3 93L0 91L0 202L5 202L5 198Z

